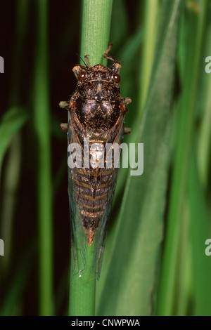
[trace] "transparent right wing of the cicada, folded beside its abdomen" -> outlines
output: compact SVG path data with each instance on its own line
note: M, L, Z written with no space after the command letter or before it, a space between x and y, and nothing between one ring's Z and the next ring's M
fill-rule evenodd
M110 140L110 137L113 140L113 143L117 143L118 145L121 145L122 140L124 136L124 116L120 119L119 124L115 128L115 131L110 131L110 135L108 136L108 140ZM107 225L108 225L108 218L110 216L110 211L113 203L113 197L115 194L115 186L117 183L117 168L113 168L113 171L111 173L111 182L112 184L109 185L108 189L108 195L107 195L107 201L106 201L106 207L103 212L103 216L101 218L101 221L98 226L98 230L96 231L95 237L94 237L94 258L91 265L91 271L94 273L97 279L99 279L101 275L101 267L103 262L103 253L105 249L105 243L106 243L106 232L107 232Z

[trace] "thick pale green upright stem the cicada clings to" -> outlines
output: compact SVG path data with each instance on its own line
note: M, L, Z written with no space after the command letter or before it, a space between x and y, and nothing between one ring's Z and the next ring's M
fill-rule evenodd
M80 55L89 55L90 65L106 65L103 53L108 48L110 34L111 0L82 1L82 43ZM94 244L93 244L94 245ZM96 279L90 273L94 246L87 247L87 272L73 279L70 272L69 315L95 315ZM80 255L78 258L81 258Z

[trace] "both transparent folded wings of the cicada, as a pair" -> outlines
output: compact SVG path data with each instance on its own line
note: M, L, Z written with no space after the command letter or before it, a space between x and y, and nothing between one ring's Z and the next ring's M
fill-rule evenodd
M123 140L124 134L124 117L120 119L118 124L108 132L109 143L117 143L120 145ZM68 123L68 145L70 143L79 143L79 138L77 132L71 124L71 115L69 113L69 123ZM111 143L111 144L112 144ZM106 152L106 149L105 149ZM105 158L106 159L106 158ZM101 274L101 266L103 260L103 252L105 248L106 241L106 230L108 218L110 216L110 210L113 202L113 196L115 193L115 185L117 180L117 168L112 169L110 176L108 177L109 185L106 196L106 203L103 206L103 214L101 216L98 229L94 235L94 257L91 264L91 272L99 279ZM77 194L79 192L75 191L74 179L75 168L70 168L68 166L68 193L70 202L70 224L71 224L71 257L72 257L72 271L73 275L82 275L82 272L87 270L87 239L84 235L84 229L82 226L82 216L77 205ZM103 171L103 169L100 169ZM86 172L84 172L86 175ZM106 184L106 181L103 181ZM78 188L77 188L78 189Z

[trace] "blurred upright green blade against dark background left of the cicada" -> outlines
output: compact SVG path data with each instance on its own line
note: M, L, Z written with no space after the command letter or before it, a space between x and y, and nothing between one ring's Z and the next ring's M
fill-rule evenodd
M37 201L39 222L39 313L53 314L53 203L47 13L49 1L38 0L34 63L34 130L37 136Z

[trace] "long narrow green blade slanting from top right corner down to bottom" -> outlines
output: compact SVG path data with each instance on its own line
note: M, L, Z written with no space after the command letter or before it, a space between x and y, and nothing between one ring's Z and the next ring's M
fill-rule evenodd
M160 275L158 291L158 315L174 313L174 298L177 276L177 258L179 251L179 230L182 227L186 183L189 171L191 136L196 104L198 77L200 72L200 55L203 45L205 13L207 1L200 1L200 13L190 13L188 22L188 44L186 53L186 72L179 110L177 133L177 150L174 156L174 172L170 192L170 209L168 214L167 239Z

